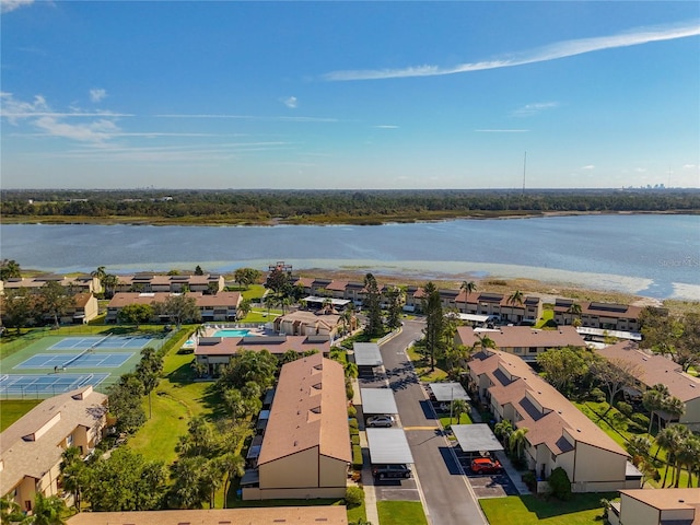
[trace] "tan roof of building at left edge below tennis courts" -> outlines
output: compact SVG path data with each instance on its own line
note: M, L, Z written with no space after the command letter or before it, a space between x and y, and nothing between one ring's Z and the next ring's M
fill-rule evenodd
M80 399L80 396L84 399ZM40 479L61 459L59 443L78 427L93 428L102 420L107 396L92 386L46 399L0 434L0 493L7 494L25 476ZM35 441L25 439L40 434Z

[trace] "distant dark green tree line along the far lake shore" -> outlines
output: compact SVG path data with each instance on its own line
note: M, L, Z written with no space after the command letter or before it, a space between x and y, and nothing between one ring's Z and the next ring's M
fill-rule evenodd
M541 212L696 212L693 189L1 190L3 217L260 223L382 222Z

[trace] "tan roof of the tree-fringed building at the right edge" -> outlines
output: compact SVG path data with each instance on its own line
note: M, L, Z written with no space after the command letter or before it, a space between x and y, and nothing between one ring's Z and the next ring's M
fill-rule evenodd
M685 402L700 397L700 378L684 373L682 368L670 359L640 350L633 341L618 342L596 351L608 360L620 359L639 366L642 374L637 378L648 387L662 383L672 396Z

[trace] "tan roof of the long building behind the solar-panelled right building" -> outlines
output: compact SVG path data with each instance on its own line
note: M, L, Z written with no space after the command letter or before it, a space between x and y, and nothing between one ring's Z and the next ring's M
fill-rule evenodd
M502 326L498 331L485 331L482 334L489 336L500 349L515 347L561 348L586 346L586 342L573 326L560 326L556 330L538 330L529 326ZM459 342L466 347L471 347L478 341L476 332L470 326L458 327L457 337Z

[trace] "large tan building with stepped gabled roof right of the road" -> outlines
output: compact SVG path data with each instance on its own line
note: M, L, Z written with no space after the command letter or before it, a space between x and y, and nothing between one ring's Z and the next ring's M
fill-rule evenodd
M634 469L628 475L628 453L520 357L481 352L468 369L470 389L494 420L508 419L515 429L527 429L524 457L538 479L546 480L561 467L573 492L641 486L641 472Z

